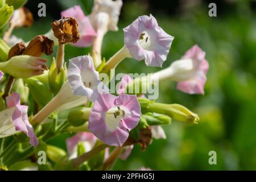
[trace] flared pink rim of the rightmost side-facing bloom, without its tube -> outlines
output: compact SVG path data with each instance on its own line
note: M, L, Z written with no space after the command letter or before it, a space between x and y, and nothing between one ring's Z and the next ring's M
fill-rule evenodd
M192 69L188 72L184 72L184 76L187 76L187 79L179 81L177 89L189 94L204 94L204 85L209 69L209 64L207 60L205 60L205 52L195 45L185 53L182 60L192 65Z

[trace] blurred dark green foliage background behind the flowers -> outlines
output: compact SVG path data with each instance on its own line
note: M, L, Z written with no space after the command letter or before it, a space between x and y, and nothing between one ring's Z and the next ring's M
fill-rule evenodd
M47 7L47 16L43 18L37 15L40 2ZM159 102L188 107L199 114L199 125L173 121L164 126L167 140L154 140L144 152L135 146L129 159L118 160L113 169L256 169L256 1L216 1L217 17L208 16L210 2L214 1L123 1L119 31L108 32L104 39L102 55L106 59L123 46L122 28L139 15L152 14L168 34L175 36L163 67L198 44L207 52L210 69L204 96L184 94L175 89L175 82L160 82L159 87ZM29 0L26 7L34 14L35 22L30 28L15 30L14 35L28 41L44 34L51 28L50 23L60 18L62 10L74 5L80 5L88 15L93 0ZM88 52L89 48L66 46L65 60ZM118 66L118 72L123 73L151 73L159 69L133 59ZM49 143L65 149L65 137ZM217 165L209 165L209 151L217 152Z

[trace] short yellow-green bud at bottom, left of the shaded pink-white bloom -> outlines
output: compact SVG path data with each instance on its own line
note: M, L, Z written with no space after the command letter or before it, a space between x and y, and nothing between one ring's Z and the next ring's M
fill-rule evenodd
M52 162L59 162L67 153L59 147L47 145L47 156Z

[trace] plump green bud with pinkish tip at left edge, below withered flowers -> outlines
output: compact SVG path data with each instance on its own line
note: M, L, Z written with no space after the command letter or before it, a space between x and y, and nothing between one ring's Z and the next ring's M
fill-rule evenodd
M42 75L47 70L45 59L28 55L14 56L9 61L0 63L0 69L4 73L16 78L28 78Z

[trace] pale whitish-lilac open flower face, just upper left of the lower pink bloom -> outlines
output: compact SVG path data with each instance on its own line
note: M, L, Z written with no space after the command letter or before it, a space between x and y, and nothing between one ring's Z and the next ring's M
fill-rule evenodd
M100 92L108 93L108 89L94 69L90 56L79 56L69 60L68 82L75 96L86 96L92 102L97 99Z

